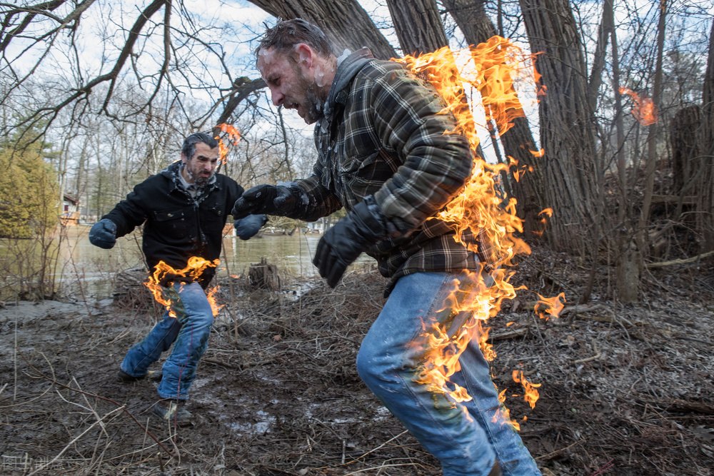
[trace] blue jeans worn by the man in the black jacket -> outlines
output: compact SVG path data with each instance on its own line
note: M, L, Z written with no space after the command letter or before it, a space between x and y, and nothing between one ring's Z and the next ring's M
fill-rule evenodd
M196 378L196 366L208 348L213 311L206 293L198 283L174 284L164 288L171 300L176 318L164 313L164 318L154 325L149 335L129 349L121 370L134 377L146 375L149 365L159 360L161 353L174 349L164 363L164 376L159 384L161 398L188 398L188 388Z

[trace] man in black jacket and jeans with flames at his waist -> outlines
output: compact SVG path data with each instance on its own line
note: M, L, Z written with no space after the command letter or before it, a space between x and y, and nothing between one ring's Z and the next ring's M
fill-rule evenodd
M193 133L183 142L181 161L134 187L92 226L89 240L109 249L118 236L144 224L142 249L151 271L161 261L182 270L189 258L213 261L221 254L223 227L243 188L232 178L215 173L218 141L206 133ZM267 221L265 215L247 215L235 223L238 236L247 240ZM154 414L179 425L192 422L183 407L196 378L196 366L208 346L213 311L204 290L215 268L206 267L196 278L164 275L161 285L171 301L164 318L149 335L129 349L117 377L123 382L144 378L161 380ZM172 315L175 315L173 317ZM174 344L161 372L149 365Z

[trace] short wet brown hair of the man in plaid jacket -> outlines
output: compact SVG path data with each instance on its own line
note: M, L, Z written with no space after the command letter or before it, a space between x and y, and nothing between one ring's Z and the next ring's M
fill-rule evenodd
M256 48L256 66L260 58L261 49L273 48L286 54L289 59L295 61L293 48L296 44L304 43L311 46L320 56L335 56L332 46L328 43L327 37L317 26L303 19L292 19L283 21L278 18L278 23L273 28L266 29L263 37L258 40Z

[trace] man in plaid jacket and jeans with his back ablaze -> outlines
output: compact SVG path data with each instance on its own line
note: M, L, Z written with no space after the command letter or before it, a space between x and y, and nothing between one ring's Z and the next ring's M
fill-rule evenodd
M469 318L456 309L458 295L486 287L488 278L478 256L486 253L458 243L454 229L437 218L473 166L466 138L444 133L456 122L442 112L441 96L366 48L337 58L323 32L301 19L278 20L256 57L273 103L316 123L317 161L308 178L249 189L233 216L313 221L346 208L348 215L321 238L313 263L335 287L366 252L390 278L388 300L357 357L362 380L441 460L444 475L540 475L518 433L496 417L500 402L478 343L468 344L450 379L471 400L458 402L418 381L430 350L425 329L454 332Z

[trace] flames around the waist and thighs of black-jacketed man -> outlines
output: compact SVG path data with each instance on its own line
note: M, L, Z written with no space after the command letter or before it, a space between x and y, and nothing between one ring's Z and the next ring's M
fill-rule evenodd
M180 278L185 278L187 282L192 282L198 279L201 273L203 273L203 270L208 267L215 267L220 262L221 260L218 259L208 261L198 256L191 256L191 258L188 258L186 268L177 270L161 260L154 268L154 273L149 275L149 280L146 280L144 285L151 290L151 294L154 295L156 302L163 305L164 308L169 311L169 315L172 318L176 318L176 312L174 312L171 303L176 302L179 299L180 291L177 293L176 289L174 289L174 287L170 284L181 282L183 285L183 280ZM162 283L164 285L162 285ZM211 303L211 310L213 311L214 316L217 315L218 310L223 307L216 305L215 298L213 298L213 295L217 290L218 286L210 290L208 293L208 302Z

